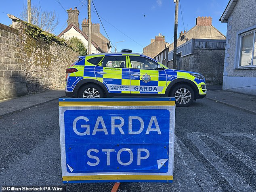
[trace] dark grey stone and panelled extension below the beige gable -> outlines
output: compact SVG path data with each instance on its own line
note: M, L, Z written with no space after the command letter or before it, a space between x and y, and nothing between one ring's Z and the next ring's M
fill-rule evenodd
M222 84L225 40L191 39L177 47L177 68L204 75L207 85ZM167 67L173 68L173 50L168 53Z

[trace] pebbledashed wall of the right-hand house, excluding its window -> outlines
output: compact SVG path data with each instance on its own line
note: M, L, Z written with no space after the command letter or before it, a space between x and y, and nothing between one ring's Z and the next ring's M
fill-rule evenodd
M223 90L256 95L256 67L237 68L237 33L256 28L256 4L238 0L227 22ZM237 52L239 54L239 52Z

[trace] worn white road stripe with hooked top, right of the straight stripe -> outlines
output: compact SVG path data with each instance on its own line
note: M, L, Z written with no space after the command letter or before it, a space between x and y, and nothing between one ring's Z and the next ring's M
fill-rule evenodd
M205 136L211 138L215 142L219 142L218 139L216 140L217 136L197 132L187 134L187 137L195 144L199 151L210 162L210 164L214 166L214 168L220 173L220 175L229 182L233 189L236 191L254 191L250 185L243 181L241 177L237 175L237 173L235 173L233 169L231 169L231 167L229 167L222 159L220 159L220 157L215 154L203 140L199 138L200 136ZM224 143L222 144L225 145ZM230 144L225 148L230 148Z

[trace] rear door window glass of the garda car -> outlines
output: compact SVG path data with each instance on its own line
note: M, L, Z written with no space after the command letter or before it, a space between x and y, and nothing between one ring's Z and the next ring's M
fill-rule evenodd
M99 65L102 67L126 68L126 56L105 56Z

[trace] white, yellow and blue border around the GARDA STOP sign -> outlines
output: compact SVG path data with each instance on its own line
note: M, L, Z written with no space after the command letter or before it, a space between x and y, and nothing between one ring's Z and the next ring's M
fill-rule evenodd
M106 107L122 108L134 106L136 109L168 109L170 111L170 128L168 144L168 172L166 173L134 173L134 172L95 172L69 173L66 162L64 112L70 109L107 109ZM59 98L59 123L61 143L61 168L63 183L96 183L96 182L166 182L173 181L174 165L174 125L175 98ZM165 162L161 162L161 165ZM164 165L166 166L166 165Z

